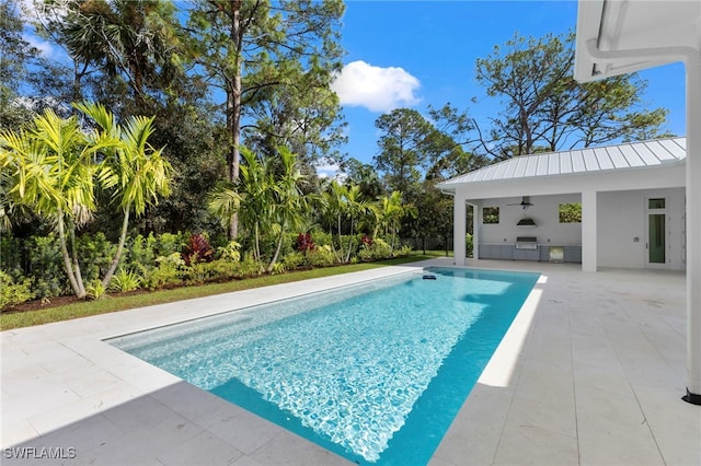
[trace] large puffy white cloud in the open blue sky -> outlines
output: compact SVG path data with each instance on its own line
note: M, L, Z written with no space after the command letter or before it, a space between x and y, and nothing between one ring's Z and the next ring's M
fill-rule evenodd
M402 68L374 67L365 61L353 61L331 84L342 105L367 107L371 112L391 112L416 105L421 100L415 92L418 79Z

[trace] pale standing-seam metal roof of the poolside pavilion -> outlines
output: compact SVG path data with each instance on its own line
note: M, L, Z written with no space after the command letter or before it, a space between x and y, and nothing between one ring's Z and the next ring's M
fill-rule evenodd
M439 184L452 187L464 183L536 178L576 173L656 167L681 162L687 156L687 139L669 138L600 148L521 155L469 172Z

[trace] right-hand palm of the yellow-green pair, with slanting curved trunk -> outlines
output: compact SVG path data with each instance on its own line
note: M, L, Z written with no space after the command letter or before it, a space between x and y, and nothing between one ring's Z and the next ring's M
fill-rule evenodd
M142 215L147 206L158 203L159 196L170 194L171 164L161 156L163 149L153 149L148 139L153 133L153 117L129 117L123 126L115 123L114 115L100 104L77 104L77 109L91 117L101 130L89 139L118 141L105 158L99 172L102 187L112 195L112 201L123 213L122 232L115 256L102 279L104 288L119 264L127 237L131 211Z

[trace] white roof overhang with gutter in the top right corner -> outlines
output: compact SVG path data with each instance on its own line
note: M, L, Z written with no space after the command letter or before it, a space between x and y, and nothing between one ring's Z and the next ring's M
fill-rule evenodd
M575 79L687 61L701 49L701 0L581 0Z

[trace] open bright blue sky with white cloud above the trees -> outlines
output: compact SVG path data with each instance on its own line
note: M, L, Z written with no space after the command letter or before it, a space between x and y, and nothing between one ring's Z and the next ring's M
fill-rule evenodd
M516 32L541 37L574 30L576 1L346 1L342 45L344 70L335 82L348 123L348 156L371 163L375 120L393 108L425 113L450 102L479 121L496 115L474 80L475 60ZM650 108L669 109L667 129L685 127L685 72L680 63L641 73ZM476 103L471 98L476 97Z

